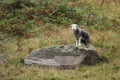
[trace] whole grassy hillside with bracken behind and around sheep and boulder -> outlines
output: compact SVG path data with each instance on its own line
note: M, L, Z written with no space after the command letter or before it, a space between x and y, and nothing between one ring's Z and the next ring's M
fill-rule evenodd
M14 4L8 7L3 7L8 2L0 6L0 35L4 38L0 41L0 54L8 56L7 62L0 63L0 80L120 80L120 0L116 0L117 5L111 0L103 6L98 0L62 0L61 4L59 0L55 0L56 4L46 0L31 0L34 4L22 1L24 6L16 5L16 1L9 2ZM33 50L75 45L69 26L74 22L90 33L92 45L103 61L75 70L23 64Z

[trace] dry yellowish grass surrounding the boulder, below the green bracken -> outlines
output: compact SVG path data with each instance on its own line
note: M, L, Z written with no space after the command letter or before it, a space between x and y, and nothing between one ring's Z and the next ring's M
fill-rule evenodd
M30 67L21 63L22 59L34 49L52 45L74 45L71 29L52 28L37 37L21 39L20 46L17 40L8 41L4 51L9 55L9 63L0 65L0 77L2 80L119 80L120 77L120 51L119 33L113 30L96 31L87 30L92 37L92 44L108 62L103 61L95 66L82 66L76 70L63 71L56 69L42 69ZM39 29L41 30L41 29ZM58 30L58 31L56 31ZM47 33L48 32L48 33ZM104 35L106 34L106 35ZM31 51L30 51L31 50Z

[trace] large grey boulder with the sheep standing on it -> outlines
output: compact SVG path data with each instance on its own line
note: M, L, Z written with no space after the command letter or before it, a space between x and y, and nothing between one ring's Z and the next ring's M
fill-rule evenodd
M94 65L100 61L94 50L87 50L72 45L41 48L31 52L24 59L27 65L57 67L62 69L76 68L79 65Z

